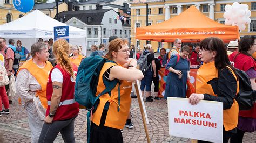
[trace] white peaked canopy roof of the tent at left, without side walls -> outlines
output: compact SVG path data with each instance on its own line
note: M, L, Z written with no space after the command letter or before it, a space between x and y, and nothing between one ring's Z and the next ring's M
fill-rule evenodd
M8 38L53 38L53 27L67 26L35 10L10 23L0 25L0 36ZM86 31L69 26L70 38L85 38Z

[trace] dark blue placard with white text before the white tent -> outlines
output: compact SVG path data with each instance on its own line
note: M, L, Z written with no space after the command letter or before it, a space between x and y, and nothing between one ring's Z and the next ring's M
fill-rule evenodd
M54 40L66 39L69 42L69 26L54 27Z

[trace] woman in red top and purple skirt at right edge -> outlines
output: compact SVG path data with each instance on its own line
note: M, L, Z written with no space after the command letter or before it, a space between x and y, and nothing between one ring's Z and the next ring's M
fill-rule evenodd
M239 41L239 52L234 56L234 67L245 71L251 81L253 90L256 90L256 66L253 53L256 50L256 39L254 36L244 36ZM242 142L245 132L256 130L256 103L250 110L240 110L238 118L238 132L233 135L231 142Z

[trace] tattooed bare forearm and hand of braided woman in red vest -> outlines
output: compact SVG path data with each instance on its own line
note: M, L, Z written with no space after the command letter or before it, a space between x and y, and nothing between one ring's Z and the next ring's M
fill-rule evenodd
M52 96L51 96L51 107L49 113L52 113L55 115L56 110L59 106L60 99L62 97L62 83L61 82L52 82ZM45 122L50 124L52 123L53 117L50 117L49 115L45 117Z

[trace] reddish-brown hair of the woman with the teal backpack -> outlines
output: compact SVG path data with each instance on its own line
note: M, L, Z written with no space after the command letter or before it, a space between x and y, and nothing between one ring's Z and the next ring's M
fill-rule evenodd
M127 39L116 38L116 39L112 40L109 43L109 52L107 52L106 58L109 60L112 60L113 59L112 52L117 52L119 49L122 48L122 45L124 45L124 44L128 44Z

